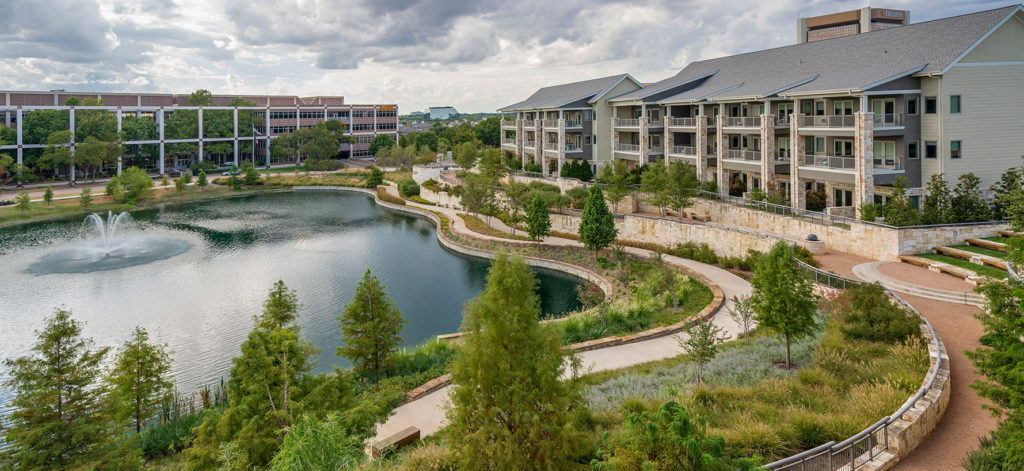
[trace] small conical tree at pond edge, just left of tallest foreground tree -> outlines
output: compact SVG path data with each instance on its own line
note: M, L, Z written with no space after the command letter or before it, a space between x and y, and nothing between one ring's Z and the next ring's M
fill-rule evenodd
M369 269L338 320L345 341L345 345L338 347L338 355L352 361L358 374L380 375L391 367L391 356L401 343L399 334L406 320L387 296L384 285Z

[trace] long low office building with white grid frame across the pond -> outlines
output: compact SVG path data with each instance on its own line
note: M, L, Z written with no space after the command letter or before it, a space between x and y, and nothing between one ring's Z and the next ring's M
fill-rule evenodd
M229 141L233 143L233 162L239 163L239 142L255 142L254 155L261 155L270 164L269 141L274 137L309 128L327 120L341 120L347 125L346 133L354 137L354 142L339 148L340 157L369 155L370 141L378 134L398 138L398 106L395 104L346 104L342 96L299 97L289 95L213 95L209 106L190 106L187 94L169 93L98 93L56 91L0 91L0 125L16 129L17 140L4 142L2 151L14 151L20 163L26 149L45 146L43 142L25 142L23 139L24 117L37 110L61 110L69 114L69 123L75 125L75 110L105 110L117 116L120 126L127 115L145 117L157 122L154 139L125 141L125 144L159 145L160 158L157 170L165 173L165 145L170 143L197 143L197 159L203 160L204 144ZM93 98L102 100L102 106L66 106L71 98ZM255 106L231 106L234 98L255 103ZM198 128L190 138L165 138L165 120L175 111L196 110ZM230 136L209 137L203 128L203 112L230 111L234 114L234 128ZM257 125L255 129L239 129L238 112L251 111ZM173 140L173 142L169 142Z

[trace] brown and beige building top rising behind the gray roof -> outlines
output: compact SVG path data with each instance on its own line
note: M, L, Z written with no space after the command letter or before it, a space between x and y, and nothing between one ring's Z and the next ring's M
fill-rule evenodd
M910 12L865 6L859 10L811 16L797 20L797 42L808 43L888 30L910 23Z

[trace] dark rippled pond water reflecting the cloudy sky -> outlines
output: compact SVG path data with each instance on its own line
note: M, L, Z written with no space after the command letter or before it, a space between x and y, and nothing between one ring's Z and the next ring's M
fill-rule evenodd
M117 252L91 255L92 265L76 258L98 250L94 220L0 229L0 358L28 352L42 319L62 306L96 346L120 346L136 325L144 327L170 346L172 374L187 393L227 374L267 291L283 280L302 304L302 336L321 350L316 371L330 371L347 366L335 356L335 317L368 268L409 322L401 335L412 346L459 330L464 303L483 289L489 265L441 248L432 222L359 194L273 194L131 216L117 230L134 241L123 250L143 247L143 263ZM54 260L60 257L70 259ZM579 280L535 272L545 313L579 307ZM0 415L9 399L0 386Z

